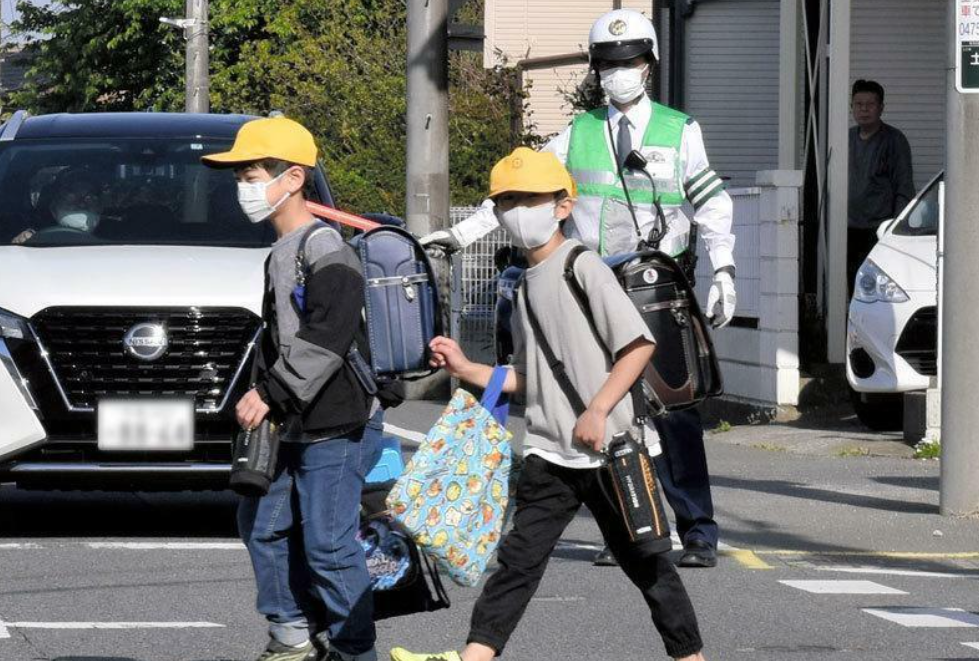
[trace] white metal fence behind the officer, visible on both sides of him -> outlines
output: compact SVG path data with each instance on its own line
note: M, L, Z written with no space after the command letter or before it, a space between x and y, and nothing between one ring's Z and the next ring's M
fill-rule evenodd
M728 191L734 201L734 262L738 268L737 316L757 319L761 313L761 264L759 259L758 188L734 188ZM471 216L478 207L453 207L453 225ZM496 308L497 272L493 263L496 251L509 244L506 232L497 229L476 241L452 258L452 337L457 338L473 360L493 364L496 349L493 340L493 313ZM712 281L710 259L701 246L702 258L697 264L697 298L707 303Z

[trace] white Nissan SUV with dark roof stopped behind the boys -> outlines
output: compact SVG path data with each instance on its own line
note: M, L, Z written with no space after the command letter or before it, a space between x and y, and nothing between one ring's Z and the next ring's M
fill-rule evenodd
M227 484L274 237L200 157L248 119L0 127L0 482ZM315 184L332 205L322 169Z

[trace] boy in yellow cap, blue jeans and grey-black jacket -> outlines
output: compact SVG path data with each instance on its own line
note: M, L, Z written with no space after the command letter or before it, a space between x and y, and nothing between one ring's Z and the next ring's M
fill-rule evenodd
M269 621L258 659L376 661L370 577L355 536L361 488L380 449L379 407L345 360L354 342L365 344L360 260L306 210L316 144L302 125L250 121L231 151L203 161L234 168L242 211L279 237L266 267L254 385L236 408L245 429L269 417L282 430L268 493L243 498L238 510L258 611ZM304 297L294 295L300 277Z

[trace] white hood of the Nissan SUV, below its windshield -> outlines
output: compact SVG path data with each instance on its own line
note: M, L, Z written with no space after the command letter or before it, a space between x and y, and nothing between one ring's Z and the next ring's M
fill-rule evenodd
M261 314L267 249L0 247L0 308L221 306Z

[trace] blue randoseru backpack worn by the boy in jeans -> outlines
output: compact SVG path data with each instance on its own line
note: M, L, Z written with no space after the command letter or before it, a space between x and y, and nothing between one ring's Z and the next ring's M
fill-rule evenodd
M306 309L306 243L325 227L320 221L313 223L296 252L293 300L300 312ZM434 373L428 364L428 345L442 332L442 314L435 272L425 249L407 230L394 225L359 234L349 245L363 266L364 321L369 344L368 359L356 346L347 356L354 371L362 381L367 376L375 383ZM369 384L365 383L365 387L371 390Z

